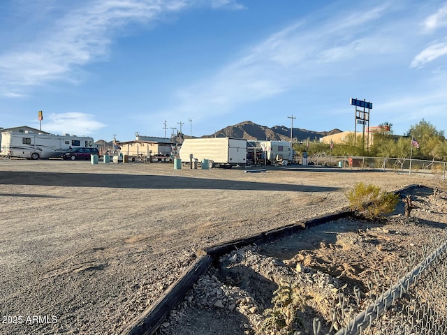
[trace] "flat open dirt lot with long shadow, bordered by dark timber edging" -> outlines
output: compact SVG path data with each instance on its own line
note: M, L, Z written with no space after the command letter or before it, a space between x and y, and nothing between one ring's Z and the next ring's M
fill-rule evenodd
M445 185L323 168L0 161L0 334L119 334L198 249L341 209L359 181Z

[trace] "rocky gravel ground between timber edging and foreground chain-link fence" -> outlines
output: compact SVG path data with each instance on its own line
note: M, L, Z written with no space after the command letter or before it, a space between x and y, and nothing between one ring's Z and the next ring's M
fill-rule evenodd
M399 213L403 212L401 203L386 221L341 218L223 255L170 312L156 334L314 334L314 318L322 320L318 334L328 334L331 325L335 329L330 334L334 334L379 297L382 288L388 290L411 269L409 255L421 262L425 258L421 251L427 246L434 250L446 241L447 194L434 197L428 188L410 194L416 205L410 218ZM277 290L288 287L295 296L288 305L293 304L290 327L268 327ZM422 290L432 297L430 290L444 289L435 285ZM432 309L432 313L445 320L445 290L438 297L441 308ZM405 304L399 302L393 308L400 306ZM279 311L287 308L283 305ZM401 323L391 311L362 334L414 334L404 328L391 332Z

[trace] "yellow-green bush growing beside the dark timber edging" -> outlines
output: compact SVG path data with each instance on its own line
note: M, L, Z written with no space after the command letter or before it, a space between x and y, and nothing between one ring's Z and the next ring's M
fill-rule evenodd
M356 184L348 191L346 198L349 200L351 210L368 220L391 213L399 202L399 195L382 192L379 186L363 183Z

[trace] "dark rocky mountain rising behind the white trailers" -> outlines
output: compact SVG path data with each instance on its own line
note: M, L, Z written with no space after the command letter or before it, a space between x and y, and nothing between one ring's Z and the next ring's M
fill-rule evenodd
M319 140L326 135L332 135L341 133L339 129L333 129L332 131L307 131L302 128L293 128L293 140ZM245 140L274 140L274 141L290 141L291 128L286 126L274 126L268 128L259 124L254 124L251 121L244 121L234 126L227 126L226 128L217 131L212 135L205 135L202 137L235 137L244 138Z

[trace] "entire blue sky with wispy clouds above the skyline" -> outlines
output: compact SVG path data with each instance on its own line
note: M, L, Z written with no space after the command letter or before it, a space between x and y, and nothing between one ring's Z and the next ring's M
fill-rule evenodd
M3 128L351 131L365 98L370 126L447 130L446 1L3 0L0 40Z

